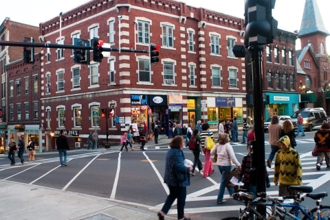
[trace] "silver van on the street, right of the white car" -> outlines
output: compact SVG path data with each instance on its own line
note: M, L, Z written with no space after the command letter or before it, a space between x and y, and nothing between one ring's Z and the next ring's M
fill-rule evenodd
M303 129L311 131L313 128L319 128L323 121L327 121L327 114L323 108L303 108L294 112L292 115L292 123L294 124L294 129L298 129L297 120L298 114L303 117Z

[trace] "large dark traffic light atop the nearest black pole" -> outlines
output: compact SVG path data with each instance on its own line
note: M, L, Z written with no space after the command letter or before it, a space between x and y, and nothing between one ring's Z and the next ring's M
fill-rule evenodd
M272 17L276 0L245 0L245 47L273 42L278 22Z

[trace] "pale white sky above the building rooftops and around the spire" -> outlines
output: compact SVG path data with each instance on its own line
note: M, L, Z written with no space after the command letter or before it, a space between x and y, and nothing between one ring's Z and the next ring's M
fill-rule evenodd
M1 0L0 22L6 17L10 20L29 25L39 26L39 23L49 21L58 16L60 12L68 12L79 5L87 3L87 0L16 0L14 7L12 1ZM187 5L212 9L217 12L244 18L244 0L182 0ZM317 0L325 28L330 32L330 0ZM278 21L278 28L289 32L300 29L305 0L276 0L273 17ZM38 12L36 12L38 11ZM300 49L300 42L297 42ZM327 38L327 53L330 54L330 36Z

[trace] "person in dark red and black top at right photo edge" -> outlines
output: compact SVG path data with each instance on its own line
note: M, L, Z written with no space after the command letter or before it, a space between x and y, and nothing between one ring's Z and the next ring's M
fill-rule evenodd
M327 163L327 168L330 168L330 125L329 123L323 123L321 129L314 134L314 140L316 143L316 151L318 152L318 158L316 160L316 169L321 169L323 158Z

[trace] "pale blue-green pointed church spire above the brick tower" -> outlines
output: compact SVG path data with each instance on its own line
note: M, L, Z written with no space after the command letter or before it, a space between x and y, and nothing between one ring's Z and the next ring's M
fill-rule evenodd
M316 0L306 0L303 21L301 21L298 36L316 34L317 32L327 36L330 35L327 29L325 29Z

